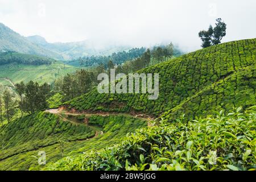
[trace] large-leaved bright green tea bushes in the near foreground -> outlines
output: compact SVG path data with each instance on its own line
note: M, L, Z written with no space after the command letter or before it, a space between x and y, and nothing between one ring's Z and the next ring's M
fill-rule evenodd
M255 110L189 122L165 120L101 151L64 158L48 170L255 170ZM168 123L168 124L167 124Z

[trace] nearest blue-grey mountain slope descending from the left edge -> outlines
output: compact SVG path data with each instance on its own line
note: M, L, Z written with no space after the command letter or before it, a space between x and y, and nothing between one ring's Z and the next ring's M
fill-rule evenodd
M16 51L31 55L63 59L63 56L61 56L60 53L50 51L38 44L32 43L27 38L19 35L2 23L0 23L0 51Z

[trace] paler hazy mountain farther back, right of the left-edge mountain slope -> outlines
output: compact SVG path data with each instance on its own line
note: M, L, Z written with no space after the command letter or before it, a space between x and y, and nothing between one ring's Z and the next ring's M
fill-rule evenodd
M32 43L61 54L66 60L76 59L83 56L111 55L114 52L125 51L130 48L128 46L115 45L97 48L92 40L69 43L48 43L46 39L39 35L28 36L27 39Z

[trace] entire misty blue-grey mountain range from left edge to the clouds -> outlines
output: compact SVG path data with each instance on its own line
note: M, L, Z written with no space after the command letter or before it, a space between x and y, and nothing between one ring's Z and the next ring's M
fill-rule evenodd
M125 51L128 46L112 45L96 47L91 40L70 43L48 43L39 35L24 37L11 28L0 23L0 51L15 51L31 55L51 57L59 60L76 59L82 56L110 55L113 52Z

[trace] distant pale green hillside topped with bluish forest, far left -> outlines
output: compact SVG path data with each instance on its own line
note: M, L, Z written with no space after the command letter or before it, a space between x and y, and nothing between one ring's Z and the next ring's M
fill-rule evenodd
M18 52L0 53L0 83L13 84L30 80L53 82L56 77L75 72L77 68L47 57Z

